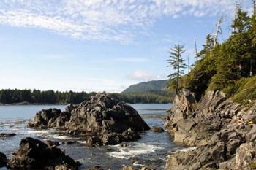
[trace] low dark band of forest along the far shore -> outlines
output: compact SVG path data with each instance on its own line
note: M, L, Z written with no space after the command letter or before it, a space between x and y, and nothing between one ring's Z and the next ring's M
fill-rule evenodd
M95 94L95 92L3 89L0 90L0 104L79 104ZM109 95L130 104L166 104L171 101L171 97L167 93L157 91L127 94L110 93Z

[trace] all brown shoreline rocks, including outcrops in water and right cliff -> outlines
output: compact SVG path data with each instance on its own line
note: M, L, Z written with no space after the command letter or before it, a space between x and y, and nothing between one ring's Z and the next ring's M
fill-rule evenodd
M170 154L165 169L256 169L255 123L255 102L246 107L226 98L221 91L208 91L197 101L194 93L182 90L168 111L165 129L175 142L182 142L191 148ZM64 112L44 109L37 112L28 126L66 131L83 139L90 147L135 141L140 138L140 132L150 129L135 109L106 94L97 94L78 105L69 104ZM159 133L164 130L153 126L152 131ZM1 134L1 137L14 135ZM80 163L65 155L57 148L58 145L53 141L22 139L19 150L13 153L10 160L0 153L0 166L9 169L78 169ZM40 157L34 152L40 153ZM53 159L47 155L55 156ZM100 166L91 168L100 169ZM124 166L122 170L151 169Z

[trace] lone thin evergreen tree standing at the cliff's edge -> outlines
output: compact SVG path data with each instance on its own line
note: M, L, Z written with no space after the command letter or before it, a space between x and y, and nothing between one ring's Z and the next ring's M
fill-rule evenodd
M181 76L184 74L184 68L186 68L184 59L181 58L181 54L184 52L184 45L174 45L170 50L170 59L167 60L169 63L167 67L172 67L175 71L168 77L170 78L170 83L173 82L172 80L174 79L176 93L178 93L178 85Z

